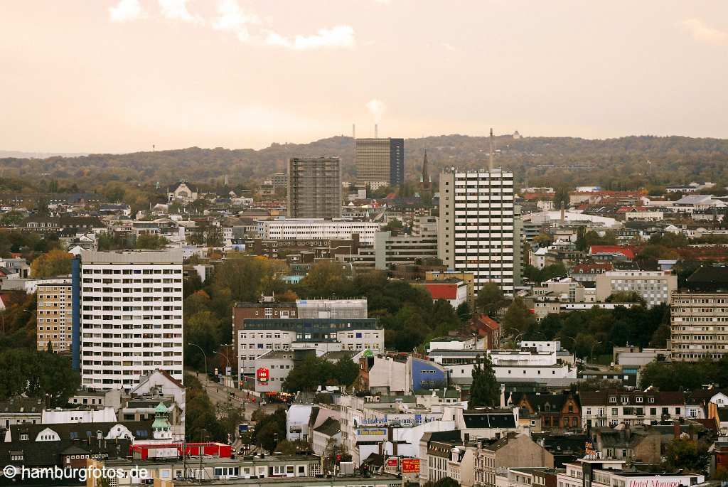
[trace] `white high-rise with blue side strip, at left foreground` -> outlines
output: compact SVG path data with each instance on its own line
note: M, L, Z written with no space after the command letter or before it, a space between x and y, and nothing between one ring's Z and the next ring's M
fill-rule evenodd
M72 261L73 364L82 387L182 380L182 252L82 252Z

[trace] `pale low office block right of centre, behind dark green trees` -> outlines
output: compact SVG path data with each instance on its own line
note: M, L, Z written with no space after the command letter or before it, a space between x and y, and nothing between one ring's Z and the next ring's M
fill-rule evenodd
M609 271L596 276L596 300L606 301L613 293L637 293L647 306L670 301L678 288L678 277L670 271Z

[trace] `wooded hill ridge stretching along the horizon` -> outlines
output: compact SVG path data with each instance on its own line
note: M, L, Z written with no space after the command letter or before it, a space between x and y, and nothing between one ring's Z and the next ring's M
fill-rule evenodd
M405 140L405 178L419 181L424 151L430 175L451 166L488 166L488 137L439 135ZM495 138L495 165L513 170L518 186L599 185L638 189L692 181L728 185L728 140L716 138L630 136L604 140L569 137ZM0 159L0 191L38 188L42 180L76 183L92 191L106 183L167 186L186 179L203 187L250 187L273 173L285 173L290 157L339 156L342 178L353 181L354 140L336 136L311 143L273 143L265 149L190 147L131 154L90 154L46 159Z

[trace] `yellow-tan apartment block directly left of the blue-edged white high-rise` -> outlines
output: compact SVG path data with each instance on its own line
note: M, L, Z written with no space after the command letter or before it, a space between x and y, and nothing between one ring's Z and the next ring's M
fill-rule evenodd
M71 349L71 279L36 285L36 348L53 352Z

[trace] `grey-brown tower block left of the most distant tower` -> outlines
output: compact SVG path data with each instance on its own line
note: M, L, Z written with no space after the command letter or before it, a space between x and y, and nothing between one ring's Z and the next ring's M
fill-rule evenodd
M339 157L288 160L288 218L341 218Z

